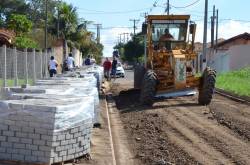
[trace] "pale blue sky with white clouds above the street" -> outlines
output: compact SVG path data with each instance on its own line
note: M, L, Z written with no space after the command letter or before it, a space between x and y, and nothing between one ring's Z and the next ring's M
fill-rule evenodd
M144 13L166 14L167 0L64 0L77 8L79 18L93 21L88 26L96 34L94 24L102 24L101 43L104 56L112 56L113 47L119 34L133 33L131 19L139 20L137 30L141 30ZM205 0L169 0L170 14L188 14L197 24L196 41L203 41ZM155 5L154 5L155 4ZM228 39L238 34L250 33L249 0L208 0L208 18L212 16L213 5L219 9L219 38ZM208 41L210 41L210 22ZM123 39L123 37L122 37Z

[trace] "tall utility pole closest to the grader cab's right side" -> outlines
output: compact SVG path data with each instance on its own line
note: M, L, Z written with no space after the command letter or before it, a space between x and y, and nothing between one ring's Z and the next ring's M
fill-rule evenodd
M208 13L208 0L205 0L203 52L202 52L202 71L206 67L206 56L207 56L207 13Z

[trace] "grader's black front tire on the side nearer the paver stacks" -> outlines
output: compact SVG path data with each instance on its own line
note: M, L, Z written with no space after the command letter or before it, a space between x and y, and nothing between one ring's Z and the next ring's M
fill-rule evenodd
M156 94L157 78L153 71L148 70L143 77L140 102L151 106Z

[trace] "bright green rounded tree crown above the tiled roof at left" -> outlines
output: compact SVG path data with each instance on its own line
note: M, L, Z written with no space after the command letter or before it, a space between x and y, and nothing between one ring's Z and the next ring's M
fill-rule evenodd
M11 14L7 20L7 28L13 30L19 36L31 30L32 22L25 15Z

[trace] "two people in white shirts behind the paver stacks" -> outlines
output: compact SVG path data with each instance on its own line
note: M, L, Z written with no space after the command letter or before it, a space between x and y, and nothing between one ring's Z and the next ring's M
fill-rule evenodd
M54 75L57 74L57 67L58 67L58 62L55 60L54 56L51 56L48 65L50 77L53 77ZM72 53L69 53L69 56L64 62L63 69L66 71L73 71L74 68L75 68L75 59L72 56Z

